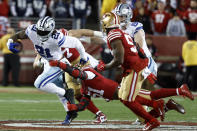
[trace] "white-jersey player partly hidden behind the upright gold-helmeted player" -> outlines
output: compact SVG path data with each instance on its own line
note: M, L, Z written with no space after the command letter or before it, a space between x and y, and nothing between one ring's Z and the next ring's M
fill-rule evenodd
M140 22L131 22L133 16L132 9L128 4L119 4L114 13L119 16L121 29L128 33L136 43L144 50L144 53L149 59L148 69L157 76L157 64L152 58L152 55L148 49L145 40L145 33L143 30L143 24Z

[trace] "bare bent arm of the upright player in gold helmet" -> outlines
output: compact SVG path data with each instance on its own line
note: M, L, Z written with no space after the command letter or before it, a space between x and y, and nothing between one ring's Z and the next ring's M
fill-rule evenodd
M111 42L114 59L105 65L105 69L117 67L124 62L124 48L121 40L114 40Z

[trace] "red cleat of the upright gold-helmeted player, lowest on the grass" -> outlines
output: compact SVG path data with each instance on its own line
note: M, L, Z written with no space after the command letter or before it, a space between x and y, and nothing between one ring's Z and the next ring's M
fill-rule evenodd
M153 118L151 121L147 122L144 128L142 129L143 131L150 131L156 127L160 126L160 123L157 119Z

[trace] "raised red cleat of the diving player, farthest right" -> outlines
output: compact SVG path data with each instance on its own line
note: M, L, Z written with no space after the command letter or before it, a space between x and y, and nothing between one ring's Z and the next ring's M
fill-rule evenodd
M193 94L190 92L187 84L183 84L181 85L181 87L179 88L179 93L180 95L182 95L183 97L188 97L191 100L194 100L194 96Z

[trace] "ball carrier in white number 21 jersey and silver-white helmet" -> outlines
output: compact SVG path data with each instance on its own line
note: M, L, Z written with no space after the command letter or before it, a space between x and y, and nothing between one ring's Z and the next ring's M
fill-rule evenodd
M30 39L36 52L47 61L61 60L67 61L63 57L62 49L76 48L80 53L80 63L85 64L88 61L85 49L81 42L74 37L64 36L61 32L55 30L55 21L46 16L38 20L36 24L27 27L13 35L7 42L8 49L14 53L19 52L16 48L18 39ZM57 94L65 103L69 101L74 103L73 90L65 90L63 84L55 84L63 71L58 67L49 67L40 74L34 82L34 86L39 90ZM58 82L57 82L58 83ZM77 116L76 112L69 112L70 120Z

